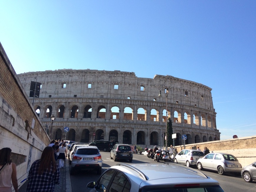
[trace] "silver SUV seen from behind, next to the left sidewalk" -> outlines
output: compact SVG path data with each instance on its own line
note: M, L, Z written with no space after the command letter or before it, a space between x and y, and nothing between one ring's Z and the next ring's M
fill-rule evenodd
M81 170L102 171L102 157L96 146L77 146L72 156L70 174Z

